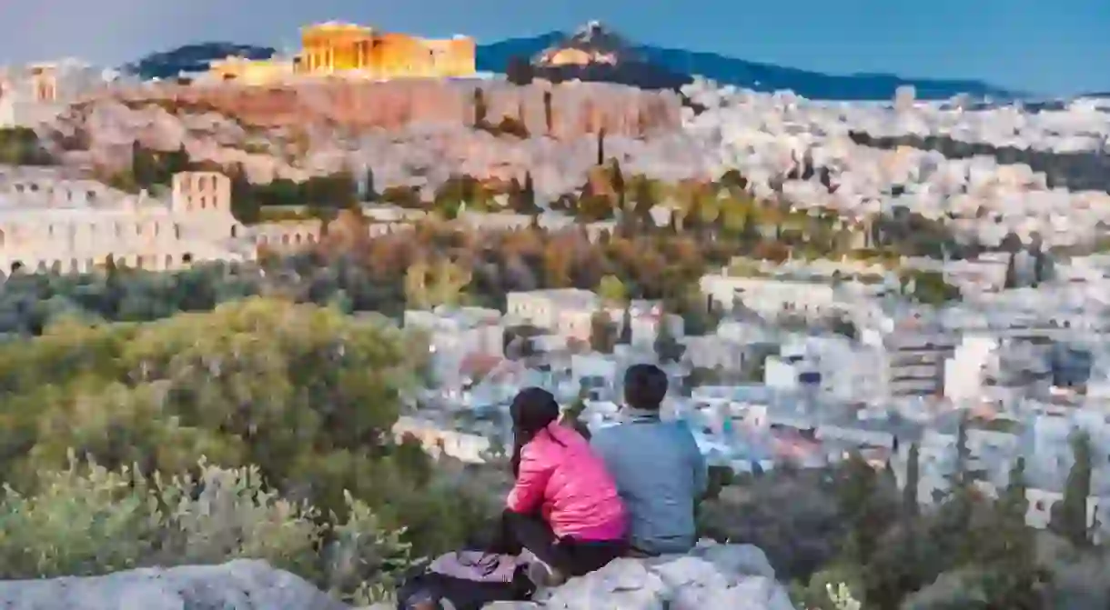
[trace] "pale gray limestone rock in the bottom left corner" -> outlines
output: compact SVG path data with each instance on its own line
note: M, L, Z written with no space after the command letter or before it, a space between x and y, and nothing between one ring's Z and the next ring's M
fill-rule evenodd
M128 570L101 577L0 581L6 610L346 610L264 561Z

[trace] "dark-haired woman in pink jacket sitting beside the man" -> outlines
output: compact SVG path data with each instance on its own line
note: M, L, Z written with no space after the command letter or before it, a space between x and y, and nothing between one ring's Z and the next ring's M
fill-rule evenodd
M513 399L513 475L502 552L527 549L528 576L553 586L592 572L625 549L626 516L616 484L589 443L558 421L558 403L541 388Z

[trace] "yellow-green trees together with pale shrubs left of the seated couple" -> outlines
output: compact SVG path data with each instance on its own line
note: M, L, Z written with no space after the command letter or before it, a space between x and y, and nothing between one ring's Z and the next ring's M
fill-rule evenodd
M418 340L252 298L0 345L0 575L259 557L374 597L488 508L391 436Z

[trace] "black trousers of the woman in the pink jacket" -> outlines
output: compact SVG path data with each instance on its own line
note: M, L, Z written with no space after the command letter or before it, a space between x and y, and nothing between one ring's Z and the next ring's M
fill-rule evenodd
M541 561L565 576L574 577L601 569L623 556L626 545L620 540L559 538L538 515L506 510L502 514L501 538L493 550L519 555L523 549L528 549Z

